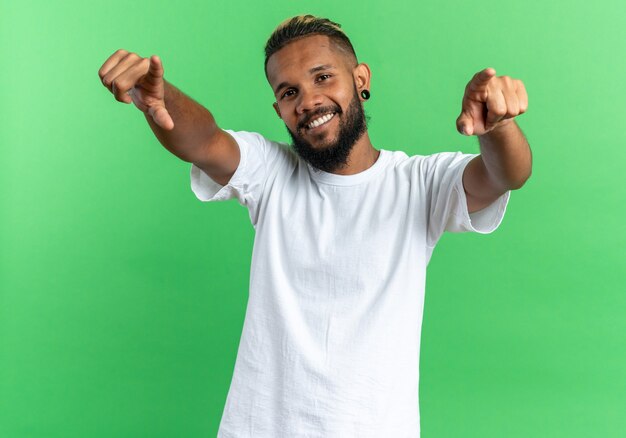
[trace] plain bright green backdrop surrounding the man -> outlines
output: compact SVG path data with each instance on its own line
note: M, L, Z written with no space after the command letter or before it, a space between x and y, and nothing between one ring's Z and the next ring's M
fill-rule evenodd
M215 436L254 230L97 72L158 54L220 126L287 141L262 49L299 13L370 65L378 149L478 152L455 120L485 67L529 94L531 179L429 266L422 436L626 436L621 0L2 1L0 436Z

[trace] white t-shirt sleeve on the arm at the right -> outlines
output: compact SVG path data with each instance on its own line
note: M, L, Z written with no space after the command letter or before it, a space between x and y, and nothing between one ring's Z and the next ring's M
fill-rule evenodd
M444 231L489 234L502 222L510 191L482 210L469 213L467 209L463 171L478 155L442 152L423 160L422 172L428 194L428 246L434 247Z

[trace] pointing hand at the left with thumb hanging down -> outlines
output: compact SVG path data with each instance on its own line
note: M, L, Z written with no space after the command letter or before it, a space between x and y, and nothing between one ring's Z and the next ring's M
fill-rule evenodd
M118 102L132 102L161 128L174 129L174 121L165 108L163 65L158 56L142 58L120 49L102 64L98 76Z

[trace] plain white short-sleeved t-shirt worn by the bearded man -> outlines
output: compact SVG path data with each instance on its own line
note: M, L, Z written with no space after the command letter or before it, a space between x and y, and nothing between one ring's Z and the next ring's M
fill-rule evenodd
M355 175L233 132L226 186L191 167L202 201L236 198L255 228L248 306L218 437L419 437L426 266L444 231L491 233L510 192L468 214L478 154L380 150Z

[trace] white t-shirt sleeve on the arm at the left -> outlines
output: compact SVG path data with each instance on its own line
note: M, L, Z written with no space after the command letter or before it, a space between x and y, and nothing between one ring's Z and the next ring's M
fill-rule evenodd
M268 174L268 162L276 158L280 148L256 132L225 131L239 146L239 165L235 173L223 186L192 163L191 190L203 202L237 199L248 208L252 224L256 225L259 201Z

